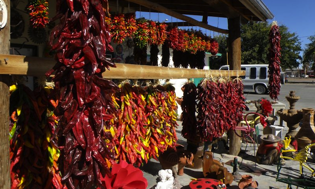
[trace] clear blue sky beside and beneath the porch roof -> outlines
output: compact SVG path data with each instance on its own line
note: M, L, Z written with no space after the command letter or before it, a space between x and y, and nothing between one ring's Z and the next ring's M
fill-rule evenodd
M285 25L288 27L290 32L295 32L301 41L302 48L305 47L305 44L309 43L307 36L315 35L315 0L262 0L269 10L273 13L274 18L272 20L267 20L272 22L273 20L277 21L279 25ZM168 19L166 22L170 21L181 21L177 20L174 17L162 14L162 13L150 13L145 14L144 12L136 12L136 17L145 17L147 19L156 20L162 22L165 19ZM202 20L201 16L194 16L196 20ZM217 18L217 17L208 17L208 24L217 26L220 28L227 29L227 19L226 18ZM185 27L187 28L187 27ZM207 35L217 35L216 33L210 30L205 30L200 27L193 26L193 29L200 29ZM302 53L301 53L302 55Z

